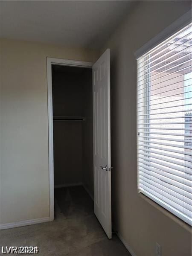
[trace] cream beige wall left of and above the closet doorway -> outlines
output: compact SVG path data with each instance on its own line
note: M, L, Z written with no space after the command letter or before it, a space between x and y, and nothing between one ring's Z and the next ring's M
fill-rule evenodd
M46 57L96 61L92 50L0 40L0 224L49 216Z

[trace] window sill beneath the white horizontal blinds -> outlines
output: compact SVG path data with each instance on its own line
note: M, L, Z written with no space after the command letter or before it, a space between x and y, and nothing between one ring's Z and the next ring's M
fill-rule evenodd
M155 207L156 209L160 210L160 212L162 212L164 215L166 215L169 218L171 218L173 221L175 221L177 224L179 224L185 230L189 231L189 233L192 233L192 227L189 224L187 224L184 221L180 220L175 215L173 215L171 212L169 212L168 210L164 209L162 206L158 205L157 203L155 203L154 201L152 201L150 198L148 198L147 196L143 195L142 193L138 193L138 195L139 195L140 198L143 198L146 202L151 204L153 207Z

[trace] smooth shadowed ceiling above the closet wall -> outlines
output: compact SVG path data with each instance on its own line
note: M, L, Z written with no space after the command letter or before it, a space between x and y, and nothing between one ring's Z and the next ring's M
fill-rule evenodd
M134 1L0 1L0 38L99 49Z

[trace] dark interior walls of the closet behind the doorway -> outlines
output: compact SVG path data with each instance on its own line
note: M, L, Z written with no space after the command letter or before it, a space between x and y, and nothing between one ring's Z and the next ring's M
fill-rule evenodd
M85 116L86 121L54 121L54 184L84 183L93 194L92 70L52 66L53 116Z

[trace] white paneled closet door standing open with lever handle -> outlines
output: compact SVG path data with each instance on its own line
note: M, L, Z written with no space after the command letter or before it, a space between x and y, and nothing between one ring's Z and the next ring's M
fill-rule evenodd
M111 239L110 49L93 65L94 212Z

